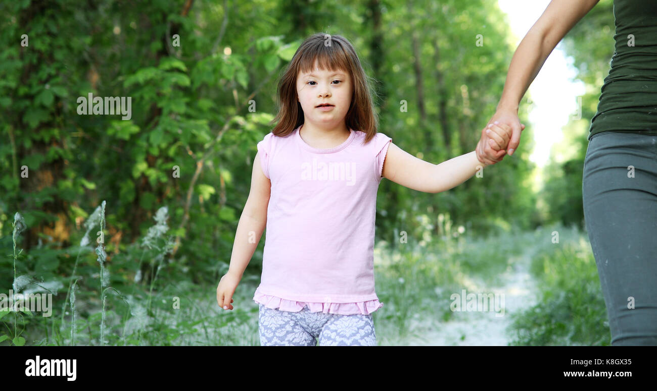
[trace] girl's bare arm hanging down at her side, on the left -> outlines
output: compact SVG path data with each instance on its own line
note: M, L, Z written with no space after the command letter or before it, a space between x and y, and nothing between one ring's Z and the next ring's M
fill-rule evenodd
M237 224L233 253L228 272L217 286L217 304L225 309L233 309L233 293L242 279L244 270L258 247L260 237L267 226L267 205L271 192L271 181L260 167L260 152L256 154L251 174L251 190L244 210Z

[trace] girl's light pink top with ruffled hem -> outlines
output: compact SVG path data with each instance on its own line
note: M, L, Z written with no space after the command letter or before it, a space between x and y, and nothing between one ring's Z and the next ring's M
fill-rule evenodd
M271 181L262 276L253 300L298 312L369 315L374 292L376 192L392 138L365 132L335 148L306 144L299 127L258 142Z

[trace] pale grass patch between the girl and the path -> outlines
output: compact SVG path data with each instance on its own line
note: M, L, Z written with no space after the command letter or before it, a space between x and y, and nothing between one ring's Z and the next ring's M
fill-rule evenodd
M431 243L407 243L391 249L378 243L375 249L376 290L384 306L374 312L379 344L421 335L419 319L433 323L452 318L451 294L461 289L481 291L499 283L514 257L523 249L512 234L474 238L443 236Z

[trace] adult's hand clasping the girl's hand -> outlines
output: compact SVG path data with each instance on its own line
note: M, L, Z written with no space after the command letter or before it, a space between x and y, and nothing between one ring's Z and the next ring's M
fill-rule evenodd
M509 140L508 145L499 145L495 140L490 138L486 133L486 129L491 127L491 125L507 125L512 129L512 135ZM520 123L518 118L518 113L514 110L505 110L499 109L495 112L495 115L491 117L490 121L484 129L482 129L482 136L477 143L477 159L482 163L486 164L495 164L498 161L502 161L504 155L507 153L513 155L513 152L518 148L520 144L520 133L525 129L525 125Z

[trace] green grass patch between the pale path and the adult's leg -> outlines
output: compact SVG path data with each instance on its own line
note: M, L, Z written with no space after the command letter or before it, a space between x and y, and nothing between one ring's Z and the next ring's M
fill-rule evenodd
M537 251L539 302L514 319L514 345L604 345L611 341L595 258L585 234L556 227L560 243Z

